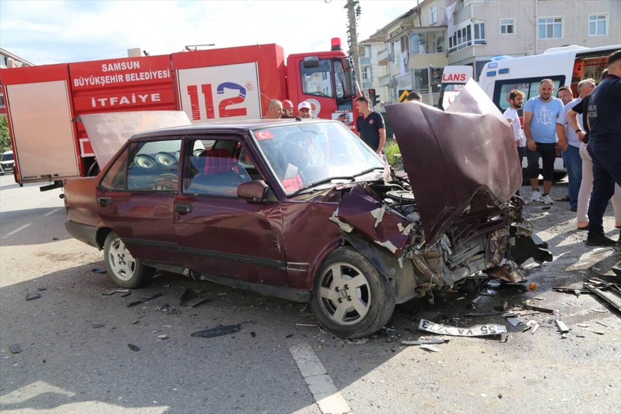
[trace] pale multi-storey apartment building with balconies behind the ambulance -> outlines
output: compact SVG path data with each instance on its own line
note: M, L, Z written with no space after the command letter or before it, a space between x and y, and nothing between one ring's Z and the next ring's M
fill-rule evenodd
M376 60L384 73L373 87L385 88L381 100L396 103L402 91L417 90L425 103L437 104L440 70L430 79L430 67L470 65L478 80L492 57L620 44L621 1L423 0L363 44L379 39L384 48Z

